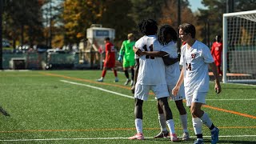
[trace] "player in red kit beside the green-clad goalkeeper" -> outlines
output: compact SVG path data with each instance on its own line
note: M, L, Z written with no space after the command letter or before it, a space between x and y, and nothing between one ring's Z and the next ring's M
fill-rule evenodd
M104 66L102 70L102 78L99 78L97 81L98 82L103 82L103 79L105 78L106 75L106 70L108 68L111 68L114 71L114 82L118 82L118 73L117 70L115 70L115 49L114 45L110 42L110 38L105 38L105 47L106 47L106 58L104 60Z

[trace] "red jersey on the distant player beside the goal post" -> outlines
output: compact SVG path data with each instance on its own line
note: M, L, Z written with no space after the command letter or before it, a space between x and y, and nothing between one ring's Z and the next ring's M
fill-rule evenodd
M210 53L214 58L216 66L220 66L222 63L222 42L214 42Z

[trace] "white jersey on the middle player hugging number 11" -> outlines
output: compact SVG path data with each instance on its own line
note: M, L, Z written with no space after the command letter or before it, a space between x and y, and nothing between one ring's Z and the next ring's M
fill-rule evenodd
M176 44L172 41L169 42L166 46L163 46L162 50L170 55L170 58L178 58ZM180 69L178 62L173 65L166 66L166 82L167 85L176 85L180 75Z

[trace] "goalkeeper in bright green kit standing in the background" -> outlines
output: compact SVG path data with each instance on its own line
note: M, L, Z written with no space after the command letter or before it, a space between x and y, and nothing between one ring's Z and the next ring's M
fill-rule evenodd
M124 85L128 85L130 82L130 86L134 85L134 34L128 34L128 39L122 42L122 46L119 52L118 61L122 62L122 67L126 75L126 82ZM128 69L130 68L131 78L129 77Z

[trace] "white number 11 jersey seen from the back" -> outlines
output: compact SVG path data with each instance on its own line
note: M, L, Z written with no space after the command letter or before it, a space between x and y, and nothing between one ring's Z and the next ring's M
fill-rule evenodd
M142 51L160 51L162 46L155 35L143 36L135 42L135 47ZM165 65L162 58L142 55L139 58L137 83L142 85L166 84Z

